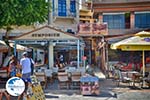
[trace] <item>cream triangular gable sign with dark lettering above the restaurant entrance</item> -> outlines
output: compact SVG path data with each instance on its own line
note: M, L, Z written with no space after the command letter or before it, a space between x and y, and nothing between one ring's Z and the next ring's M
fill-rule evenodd
M63 32L61 30L52 28L50 26L44 26L39 29L35 29L31 32L24 33L15 38L16 40L44 40L44 39L54 39L54 40L68 40L68 39L78 39L70 33Z

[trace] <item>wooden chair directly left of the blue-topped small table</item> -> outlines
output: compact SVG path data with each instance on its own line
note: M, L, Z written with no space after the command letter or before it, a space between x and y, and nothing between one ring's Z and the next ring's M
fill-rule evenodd
M71 73L71 88L80 88L80 72L72 72Z

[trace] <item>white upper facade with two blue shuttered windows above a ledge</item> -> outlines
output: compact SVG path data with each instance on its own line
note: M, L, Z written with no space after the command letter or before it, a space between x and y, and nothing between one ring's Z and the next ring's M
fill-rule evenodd
M50 25L75 34L79 23L79 0L51 0L51 2Z

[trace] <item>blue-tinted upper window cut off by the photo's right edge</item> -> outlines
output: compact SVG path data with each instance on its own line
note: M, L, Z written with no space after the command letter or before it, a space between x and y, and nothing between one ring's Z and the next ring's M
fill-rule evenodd
M149 28L150 27L150 13L135 13L135 27Z

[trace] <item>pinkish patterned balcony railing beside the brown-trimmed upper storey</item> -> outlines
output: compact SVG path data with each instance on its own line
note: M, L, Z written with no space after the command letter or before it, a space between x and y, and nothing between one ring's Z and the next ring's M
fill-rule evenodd
M108 34L107 23L84 23L78 25L78 34Z

